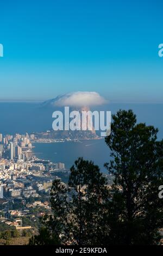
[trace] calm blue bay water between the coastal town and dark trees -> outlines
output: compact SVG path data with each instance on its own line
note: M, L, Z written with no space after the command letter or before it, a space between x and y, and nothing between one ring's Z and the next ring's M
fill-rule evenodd
M103 173L108 173L104 163L109 161L109 148L104 139L85 140L81 142L34 143L34 154L39 159L51 162L63 162L69 169L78 157L91 160Z

